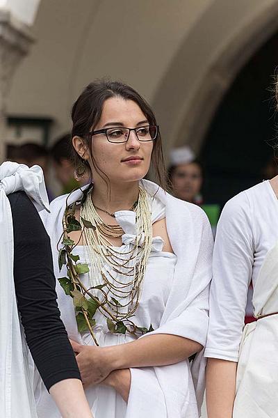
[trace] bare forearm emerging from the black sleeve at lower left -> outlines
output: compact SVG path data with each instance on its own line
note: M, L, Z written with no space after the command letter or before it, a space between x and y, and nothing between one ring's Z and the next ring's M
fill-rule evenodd
M93 418L81 380L61 380L51 386L49 393L54 398L63 418Z

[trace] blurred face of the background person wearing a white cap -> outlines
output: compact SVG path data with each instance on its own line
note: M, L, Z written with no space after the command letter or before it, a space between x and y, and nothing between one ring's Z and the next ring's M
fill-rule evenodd
M200 192L202 180L202 171L195 162L178 165L172 174L175 196L184 201L193 202Z

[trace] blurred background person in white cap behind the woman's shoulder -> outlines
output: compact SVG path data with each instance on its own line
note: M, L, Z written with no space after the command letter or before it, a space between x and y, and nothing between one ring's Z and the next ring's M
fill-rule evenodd
M197 160L190 147L183 146L171 150L168 178L174 196L202 207L209 222L211 222L211 228L215 236L220 206L204 203L202 197L204 171L201 162Z

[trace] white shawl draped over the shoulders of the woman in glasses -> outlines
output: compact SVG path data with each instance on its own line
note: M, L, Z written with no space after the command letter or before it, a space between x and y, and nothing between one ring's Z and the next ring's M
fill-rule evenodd
M149 194L155 194L156 198L165 205L167 233L174 254L177 255L172 288L161 325L156 331L147 335L174 334L205 346L208 330L208 288L212 275L211 226L204 212L197 206L175 199L147 180L143 180L143 185ZM68 203L81 199L81 196L80 190L73 192ZM59 274L56 246L62 233L66 198L67 196L60 196L53 201L51 215L45 217L43 215L46 229L51 237L56 274ZM60 285L57 286L61 318L71 338L79 341L72 301L60 290ZM79 342L82 343L82 341ZM204 394L205 364L203 353L199 353L191 368L199 415ZM154 373L155 379L152 378ZM186 392L185 396L181 389L186 385L186 376L191 378L190 372L188 373L188 360L170 366L131 369L131 375L131 391L126 418L141 418L149 415L152 415L152 418L195 418L197 416L196 405L194 412L190 413L188 410L189 394ZM155 387L151 389L148 382L154 380ZM156 397L154 393L158 396ZM190 394L190 399L192 398L195 398L195 394Z

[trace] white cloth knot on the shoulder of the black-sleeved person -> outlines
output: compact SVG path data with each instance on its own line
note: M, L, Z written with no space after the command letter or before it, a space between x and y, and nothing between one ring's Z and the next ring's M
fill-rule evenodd
M0 166L0 187L6 194L24 191L38 211L46 209L49 212L44 175L38 165L29 168L17 162L3 162Z

